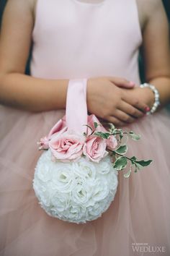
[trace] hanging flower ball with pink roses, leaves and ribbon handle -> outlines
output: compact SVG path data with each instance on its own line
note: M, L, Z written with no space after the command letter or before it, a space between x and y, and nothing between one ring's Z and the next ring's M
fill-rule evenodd
M44 152L35 167L33 188L45 212L73 223L102 216L117 192L118 171L128 167L128 178L133 168L137 172L152 162L125 155L128 137L140 140L132 131L113 124L107 130L96 116L88 116L86 80L71 80L66 116L38 142Z

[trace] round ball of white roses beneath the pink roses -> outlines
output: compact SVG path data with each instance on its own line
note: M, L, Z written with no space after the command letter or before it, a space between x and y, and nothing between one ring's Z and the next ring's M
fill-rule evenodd
M86 223L104 213L117 191L117 171L109 156L99 163L84 156L78 161L51 161L42 153L35 168L33 187L41 207L63 221Z

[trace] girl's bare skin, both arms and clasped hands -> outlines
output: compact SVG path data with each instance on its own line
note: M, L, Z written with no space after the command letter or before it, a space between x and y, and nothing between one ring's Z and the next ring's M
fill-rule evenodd
M138 0L137 4L143 33L146 82L156 86L164 106L170 100L166 14L160 0ZM0 38L0 103L28 111L65 108L68 80L44 80L24 74L35 8L36 0L9 0L6 4ZM143 117L146 107L153 105L153 92L133 86L122 77L91 77L87 85L89 112L117 126Z

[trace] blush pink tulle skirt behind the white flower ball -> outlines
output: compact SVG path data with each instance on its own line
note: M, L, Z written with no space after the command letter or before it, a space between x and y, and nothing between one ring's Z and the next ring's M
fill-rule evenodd
M142 136L129 141L129 155L153 163L129 179L120 172L107 212L78 225L48 216L32 189L36 142L63 114L0 107L0 255L170 255L170 115L160 111L125 127Z

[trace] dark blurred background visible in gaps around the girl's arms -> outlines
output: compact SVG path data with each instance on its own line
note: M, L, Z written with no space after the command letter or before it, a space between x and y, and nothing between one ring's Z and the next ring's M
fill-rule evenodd
M163 0L163 3L164 3L164 7L166 9L167 17L169 18L169 22L170 22L170 0ZM1 25L1 18L2 18L2 14L3 14L3 11L4 11L5 4L6 4L6 0L0 0L0 25ZM30 56L31 56L31 54L30 54ZM30 69L29 69L30 65L29 65L29 63L30 63L30 58L27 62L27 68L26 68L26 73L27 74L30 74ZM142 61L141 56L139 56L139 66L140 66L140 79L141 79L142 82L144 82L145 81L145 76L144 76L143 61Z

